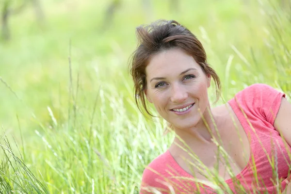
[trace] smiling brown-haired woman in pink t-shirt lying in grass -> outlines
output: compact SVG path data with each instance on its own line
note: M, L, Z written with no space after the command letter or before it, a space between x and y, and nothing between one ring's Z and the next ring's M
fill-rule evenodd
M153 103L176 134L144 170L140 193L285 190L291 172L291 104L285 95L254 84L210 108L211 79L217 100L221 83L193 33L177 21L159 20L138 27L137 36L130 63L137 105L151 115L146 100Z

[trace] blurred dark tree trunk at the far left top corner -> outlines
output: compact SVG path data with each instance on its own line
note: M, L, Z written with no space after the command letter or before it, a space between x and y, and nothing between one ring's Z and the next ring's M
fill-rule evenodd
M8 26L9 18L9 0L4 0L1 14L1 36L4 40L10 39L10 30Z

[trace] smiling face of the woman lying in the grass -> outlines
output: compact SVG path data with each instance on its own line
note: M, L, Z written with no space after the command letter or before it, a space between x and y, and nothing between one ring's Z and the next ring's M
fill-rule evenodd
M208 104L206 76L191 55L169 49L154 55L146 66L146 97L158 113L179 129L197 125Z

